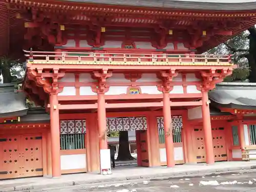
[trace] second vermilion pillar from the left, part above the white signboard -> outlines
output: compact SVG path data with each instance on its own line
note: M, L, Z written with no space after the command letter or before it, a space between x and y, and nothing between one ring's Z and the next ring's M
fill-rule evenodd
M98 130L99 130L99 148L105 150L108 148L108 141L106 140L106 108L104 93L98 93Z

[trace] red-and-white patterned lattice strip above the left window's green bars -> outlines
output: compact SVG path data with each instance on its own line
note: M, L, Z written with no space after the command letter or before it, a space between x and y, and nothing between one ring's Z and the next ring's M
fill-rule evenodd
M60 134L86 133L86 120L61 120Z

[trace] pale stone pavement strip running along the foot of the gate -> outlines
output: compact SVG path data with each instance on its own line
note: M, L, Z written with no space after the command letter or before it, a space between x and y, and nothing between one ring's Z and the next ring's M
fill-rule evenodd
M214 165L184 164L173 168L167 167L137 167L134 165L120 166L113 170L112 175L99 175L93 173L62 175L61 178L24 178L0 181L0 191L29 191L51 187L82 185L111 181L124 181L145 178L179 178L207 176L212 174L251 173L256 172L256 161L250 162L217 162Z

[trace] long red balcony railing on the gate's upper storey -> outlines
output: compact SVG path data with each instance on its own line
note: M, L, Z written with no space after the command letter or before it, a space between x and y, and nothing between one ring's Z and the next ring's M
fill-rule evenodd
M29 61L53 61L57 60L56 63L65 63L66 61L77 61L79 62L91 62L91 64L98 62L111 63L125 63L129 62L137 63L142 65L144 62L163 62L169 63L207 63L221 64L230 63L231 55L195 55L195 54L139 54L139 53L92 53L92 52L41 52L41 51L24 51L25 56L28 57ZM61 62L59 62L61 61Z

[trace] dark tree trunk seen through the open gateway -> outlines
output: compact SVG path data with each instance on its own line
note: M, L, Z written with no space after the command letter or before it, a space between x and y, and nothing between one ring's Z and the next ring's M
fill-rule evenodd
M119 150L118 150L118 156L116 160L117 161L134 160L129 148L129 137L128 137L127 131L119 132Z

